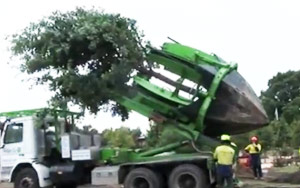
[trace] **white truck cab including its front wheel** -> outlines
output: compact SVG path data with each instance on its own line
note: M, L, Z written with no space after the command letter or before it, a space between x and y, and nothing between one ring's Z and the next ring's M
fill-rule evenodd
M51 186L46 156L45 134L33 117L14 118L1 132L0 179L19 187Z

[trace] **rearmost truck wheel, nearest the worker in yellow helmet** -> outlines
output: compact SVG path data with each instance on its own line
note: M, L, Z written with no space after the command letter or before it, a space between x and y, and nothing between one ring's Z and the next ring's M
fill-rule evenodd
M196 165L183 164L176 167L169 177L169 188L206 188L205 173Z

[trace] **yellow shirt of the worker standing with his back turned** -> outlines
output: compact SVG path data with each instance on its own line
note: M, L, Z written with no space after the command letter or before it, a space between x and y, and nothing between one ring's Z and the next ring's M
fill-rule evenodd
M234 158L234 149L227 145L218 146L214 152L214 159L221 165L232 165Z

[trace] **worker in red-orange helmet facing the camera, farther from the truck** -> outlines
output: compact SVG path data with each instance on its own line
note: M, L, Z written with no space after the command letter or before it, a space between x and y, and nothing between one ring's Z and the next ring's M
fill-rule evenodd
M255 179L261 179L263 174L261 170L261 161L260 161L260 154L261 154L261 145L258 143L258 137L253 136L251 137L251 144L249 144L245 151L250 154L251 157L251 166L253 169L253 174Z

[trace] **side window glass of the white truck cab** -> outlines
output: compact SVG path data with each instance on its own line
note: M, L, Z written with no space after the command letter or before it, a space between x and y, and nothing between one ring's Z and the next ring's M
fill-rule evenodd
M4 137L4 144L12 144L23 141L23 124L8 125Z

